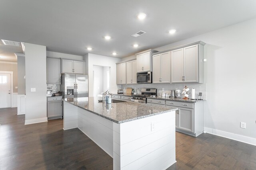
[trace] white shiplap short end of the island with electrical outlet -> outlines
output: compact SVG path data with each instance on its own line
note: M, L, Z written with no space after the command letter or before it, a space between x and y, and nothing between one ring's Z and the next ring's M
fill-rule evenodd
M113 130L114 170L165 170L176 162L175 111L113 123Z

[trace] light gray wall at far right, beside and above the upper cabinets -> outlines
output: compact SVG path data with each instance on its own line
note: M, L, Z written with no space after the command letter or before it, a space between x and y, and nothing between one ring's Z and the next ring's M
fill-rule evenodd
M207 83L207 101L204 102L204 127L211 133L230 138L234 138L234 134L240 135L238 140L241 141L243 136L256 139L255 97L249 93L256 84L255 37L256 18L154 49L163 51L196 41L206 43L204 82ZM173 85L169 86L173 88ZM156 87L160 89L162 85ZM246 129L240 128L240 122L246 123Z

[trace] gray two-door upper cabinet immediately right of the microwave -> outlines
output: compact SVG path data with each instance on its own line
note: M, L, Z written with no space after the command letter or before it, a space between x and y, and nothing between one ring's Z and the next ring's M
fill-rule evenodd
M170 83L170 52L153 55L153 83Z

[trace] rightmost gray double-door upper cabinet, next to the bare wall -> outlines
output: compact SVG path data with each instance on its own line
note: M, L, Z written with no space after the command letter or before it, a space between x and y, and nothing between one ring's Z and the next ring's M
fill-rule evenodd
M171 82L204 82L204 44L190 45L171 51Z

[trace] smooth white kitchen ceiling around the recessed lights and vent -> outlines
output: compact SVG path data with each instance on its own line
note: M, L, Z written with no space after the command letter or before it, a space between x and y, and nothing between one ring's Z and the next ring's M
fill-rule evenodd
M0 39L122 58L255 18L255 9L256 0L1 0ZM140 30L146 34L131 37Z

